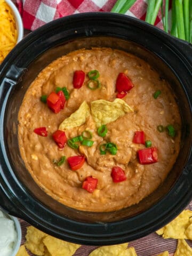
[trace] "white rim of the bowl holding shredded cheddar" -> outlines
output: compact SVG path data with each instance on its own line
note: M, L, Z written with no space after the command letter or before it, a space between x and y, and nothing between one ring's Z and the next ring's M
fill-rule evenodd
M18 31L18 39L17 39L17 43L18 43L23 38L23 23L22 23L21 15L17 7L14 5L14 3L11 0L5 0L5 2L10 6L15 19L15 23Z

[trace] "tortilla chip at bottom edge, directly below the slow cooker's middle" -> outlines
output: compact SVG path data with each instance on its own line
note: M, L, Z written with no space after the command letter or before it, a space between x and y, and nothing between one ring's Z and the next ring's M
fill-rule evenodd
M92 251L89 256L125 256L126 254L121 254L127 249L128 243L118 244L118 245L109 245L101 246L94 251ZM129 254L127 254L129 255ZM131 255L131 254L130 254Z

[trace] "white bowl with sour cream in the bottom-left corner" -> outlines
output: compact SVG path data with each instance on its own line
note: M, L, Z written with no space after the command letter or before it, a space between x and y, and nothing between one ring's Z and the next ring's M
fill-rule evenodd
M21 244L19 220L0 209L0 255L15 256Z

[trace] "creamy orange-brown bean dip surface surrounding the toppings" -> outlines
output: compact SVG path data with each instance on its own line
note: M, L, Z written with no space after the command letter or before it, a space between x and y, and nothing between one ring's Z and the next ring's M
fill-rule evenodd
M90 90L87 87L90 70L98 70L101 87ZM81 89L74 89L73 76L76 70L86 74ZM52 138L60 124L76 111L83 101L88 105L92 101L116 99L116 79L119 73L127 75L134 87L122 99L134 111L126 113L116 121L108 123L108 132L100 137L91 117L85 124L66 130L68 139L81 134L84 130L93 133L92 147L79 146L78 149L66 145L60 150ZM58 114L41 102L42 95L49 95L56 87L66 86L70 98L65 108ZM161 90L154 99L153 94ZM132 54L106 48L78 50L55 61L39 73L30 85L19 111L19 146L21 156L31 176L44 191L67 206L95 212L122 209L137 204L151 194L165 180L170 172L180 148L181 119L169 84L145 61ZM174 138L159 132L158 125L177 127ZM37 127L47 128L47 137L34 133ZM140 164L138 150L145 145L133 143L135 131L145 132L158 150L158 162ZM99 147L107 141L117 145L117 154L101 155ZM76 171L70 169L66 161L61 166L54 159L84 155L85 163ZM115 183L111 178L113 166L121 167L126 180ZM98 179L93 193L82 188L86 177Z

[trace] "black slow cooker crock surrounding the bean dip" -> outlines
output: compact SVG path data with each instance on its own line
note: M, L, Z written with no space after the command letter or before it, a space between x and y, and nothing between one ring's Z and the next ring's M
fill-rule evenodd
M121 49L149 62L171 84L182 118L180 153L165 182L138 205L107 213L71 209L45 194L18 147L18 111L30 83L61 55L92 46ZM192 196L191 71L190 44L121 14L75 14L29 34L0 67L0 205L48 234L86 245L131 241L171 221Z

